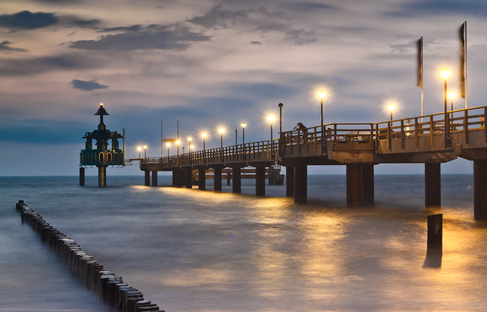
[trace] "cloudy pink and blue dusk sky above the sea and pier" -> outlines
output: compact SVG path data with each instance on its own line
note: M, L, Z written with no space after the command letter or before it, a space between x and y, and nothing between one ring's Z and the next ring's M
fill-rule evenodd
M391 101L394 119L419 116L420 37L424 113L441 112L439 72L456 74L464 21L468 106L483 106L485 12L482 0L2 0L0 176L77 175L82 136L96 129L101 102L107 128L126 129L127 158L138 158L141 145L160 156L161 122L164 138L177 136L178 121L180 138L208 133L207 148L220 145L219 128L224 145L235 143L235 128L240 140L242 122L245 142L267 140L267 116L279 116L279 103L283 130L318 126L319 90L327 92L324 123L386 121ZM451 79L449 90L458 87ZM421 164L375 167L424 172ZM442 173L472 167L455 160ZM142 172L134 165L107 174Z

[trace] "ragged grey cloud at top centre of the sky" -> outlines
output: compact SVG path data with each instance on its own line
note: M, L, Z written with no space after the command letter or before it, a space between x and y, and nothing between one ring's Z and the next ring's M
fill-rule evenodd
M240 25L247 32L262 34L278 32L284 35L285 41L290 41L295 45L318 41L313 31L294 28L293 22L286 18L281 11L269 11L263 6L257 9L229 11L225 10L222 4L219 4L204 14L186 21L208 29L233 28Z

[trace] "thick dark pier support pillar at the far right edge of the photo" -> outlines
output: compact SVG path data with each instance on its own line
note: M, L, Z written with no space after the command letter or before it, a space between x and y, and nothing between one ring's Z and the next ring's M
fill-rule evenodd
M473 219L487 219L487 160L473 161Z

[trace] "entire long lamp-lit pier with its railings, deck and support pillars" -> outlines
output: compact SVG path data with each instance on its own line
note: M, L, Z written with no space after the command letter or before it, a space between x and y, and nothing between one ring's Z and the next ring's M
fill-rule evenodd
M286 196L307 202L308 165L345 165L347 205L374 203L374 165L425 165L425 206L441 205L441 164L457 157L473 161L474 219L487 219L487 106L378 123L331 123L283 131L279 139L211 148L141 160L146 185L157 171L172 171L173 181L191 185L191 171L214 170L214 189L221 172L232 170L232 190L241 192L241 170L255 167L256 195L265 195L265 168L285 166ZM157 178L156 178L157 179ZM175 185L181 185L176 183ZM199 179L205 189L205 179Z

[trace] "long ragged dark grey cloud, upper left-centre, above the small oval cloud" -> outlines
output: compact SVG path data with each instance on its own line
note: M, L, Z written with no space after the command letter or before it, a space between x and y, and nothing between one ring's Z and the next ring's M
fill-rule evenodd
M80 50L98 51L134 51L134 50L187 50L191 43L208 41L210 36L194 33L188 27L150 25L126 31L122 34L106 35L97 40L80 40L71 42L69 47Z

